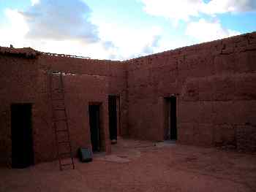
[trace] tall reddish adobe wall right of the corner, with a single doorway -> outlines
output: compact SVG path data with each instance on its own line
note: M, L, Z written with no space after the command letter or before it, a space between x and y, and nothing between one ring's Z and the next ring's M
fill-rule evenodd
M164 97L177 96L178 142L256 150L256 33L127 63L129 135L164 139Z

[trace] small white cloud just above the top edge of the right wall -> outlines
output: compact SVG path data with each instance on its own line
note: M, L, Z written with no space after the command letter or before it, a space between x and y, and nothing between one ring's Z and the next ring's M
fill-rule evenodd
M219 20L208 22L204 19L200 19L197 22L192 22L187 25L186 34L195 38L197 42L208 42L225 37L232 37L240 34L240 32L223 28Z

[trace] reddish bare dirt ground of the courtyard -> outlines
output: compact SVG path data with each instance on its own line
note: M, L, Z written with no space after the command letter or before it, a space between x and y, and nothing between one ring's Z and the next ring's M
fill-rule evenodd
M76 160L75 170L1 168L0 191L256 191L256 155L118 139L111 155Z

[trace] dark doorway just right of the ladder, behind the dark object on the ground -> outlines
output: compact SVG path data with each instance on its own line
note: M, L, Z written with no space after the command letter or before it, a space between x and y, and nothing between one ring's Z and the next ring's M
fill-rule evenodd
M100 151L100 117L99 104L89 105L89 123L91 131L91 148L93 152Z

